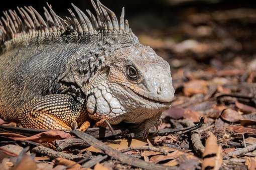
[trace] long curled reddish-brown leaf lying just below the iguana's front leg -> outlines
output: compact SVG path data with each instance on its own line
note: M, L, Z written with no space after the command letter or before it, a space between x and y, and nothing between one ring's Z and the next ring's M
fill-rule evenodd
M45 131L45 132L41 132L38 134L35 134L33 136L29 136L29 137L11 137L9 136L9 138L12 138L14 140L31 140L31 141L35 141L35 142L53 142L54 140L57 139L64 139L64 138L70 138L72 137L71 134L62 131L62 130L49 130L49 131Z

